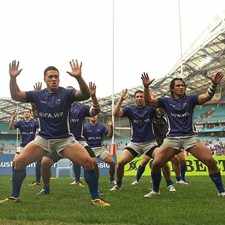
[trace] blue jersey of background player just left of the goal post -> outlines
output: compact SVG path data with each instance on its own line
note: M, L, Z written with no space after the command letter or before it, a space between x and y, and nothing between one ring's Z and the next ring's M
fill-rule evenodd
M101 123L86 123L84 124L83 135L90 147L101 147L103 137L108 133L108 129Z

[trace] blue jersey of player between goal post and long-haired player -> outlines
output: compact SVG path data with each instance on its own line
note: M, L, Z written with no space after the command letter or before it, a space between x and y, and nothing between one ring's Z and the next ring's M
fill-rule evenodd
M155 139L153 133L153 116L155 108L151 106L126 106L123 117L127 117L131 125L132 142L149 142Z

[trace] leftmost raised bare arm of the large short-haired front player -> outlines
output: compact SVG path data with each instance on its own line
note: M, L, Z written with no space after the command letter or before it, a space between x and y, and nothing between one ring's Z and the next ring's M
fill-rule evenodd
M10 75L10 93L11 97L15 101L21 101L24 102L26 100L26 93L24 91L21 91L18 87L16 78L21 73L22 69L19 69L19 61L16 60L12 61L9 64L9 75Z

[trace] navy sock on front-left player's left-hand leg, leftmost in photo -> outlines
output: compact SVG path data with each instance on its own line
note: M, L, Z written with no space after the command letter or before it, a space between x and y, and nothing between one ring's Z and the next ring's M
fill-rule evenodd
M21 170L12 168L12 194L13 197L19 197L20 189L24 178L26 177L26 167Z

